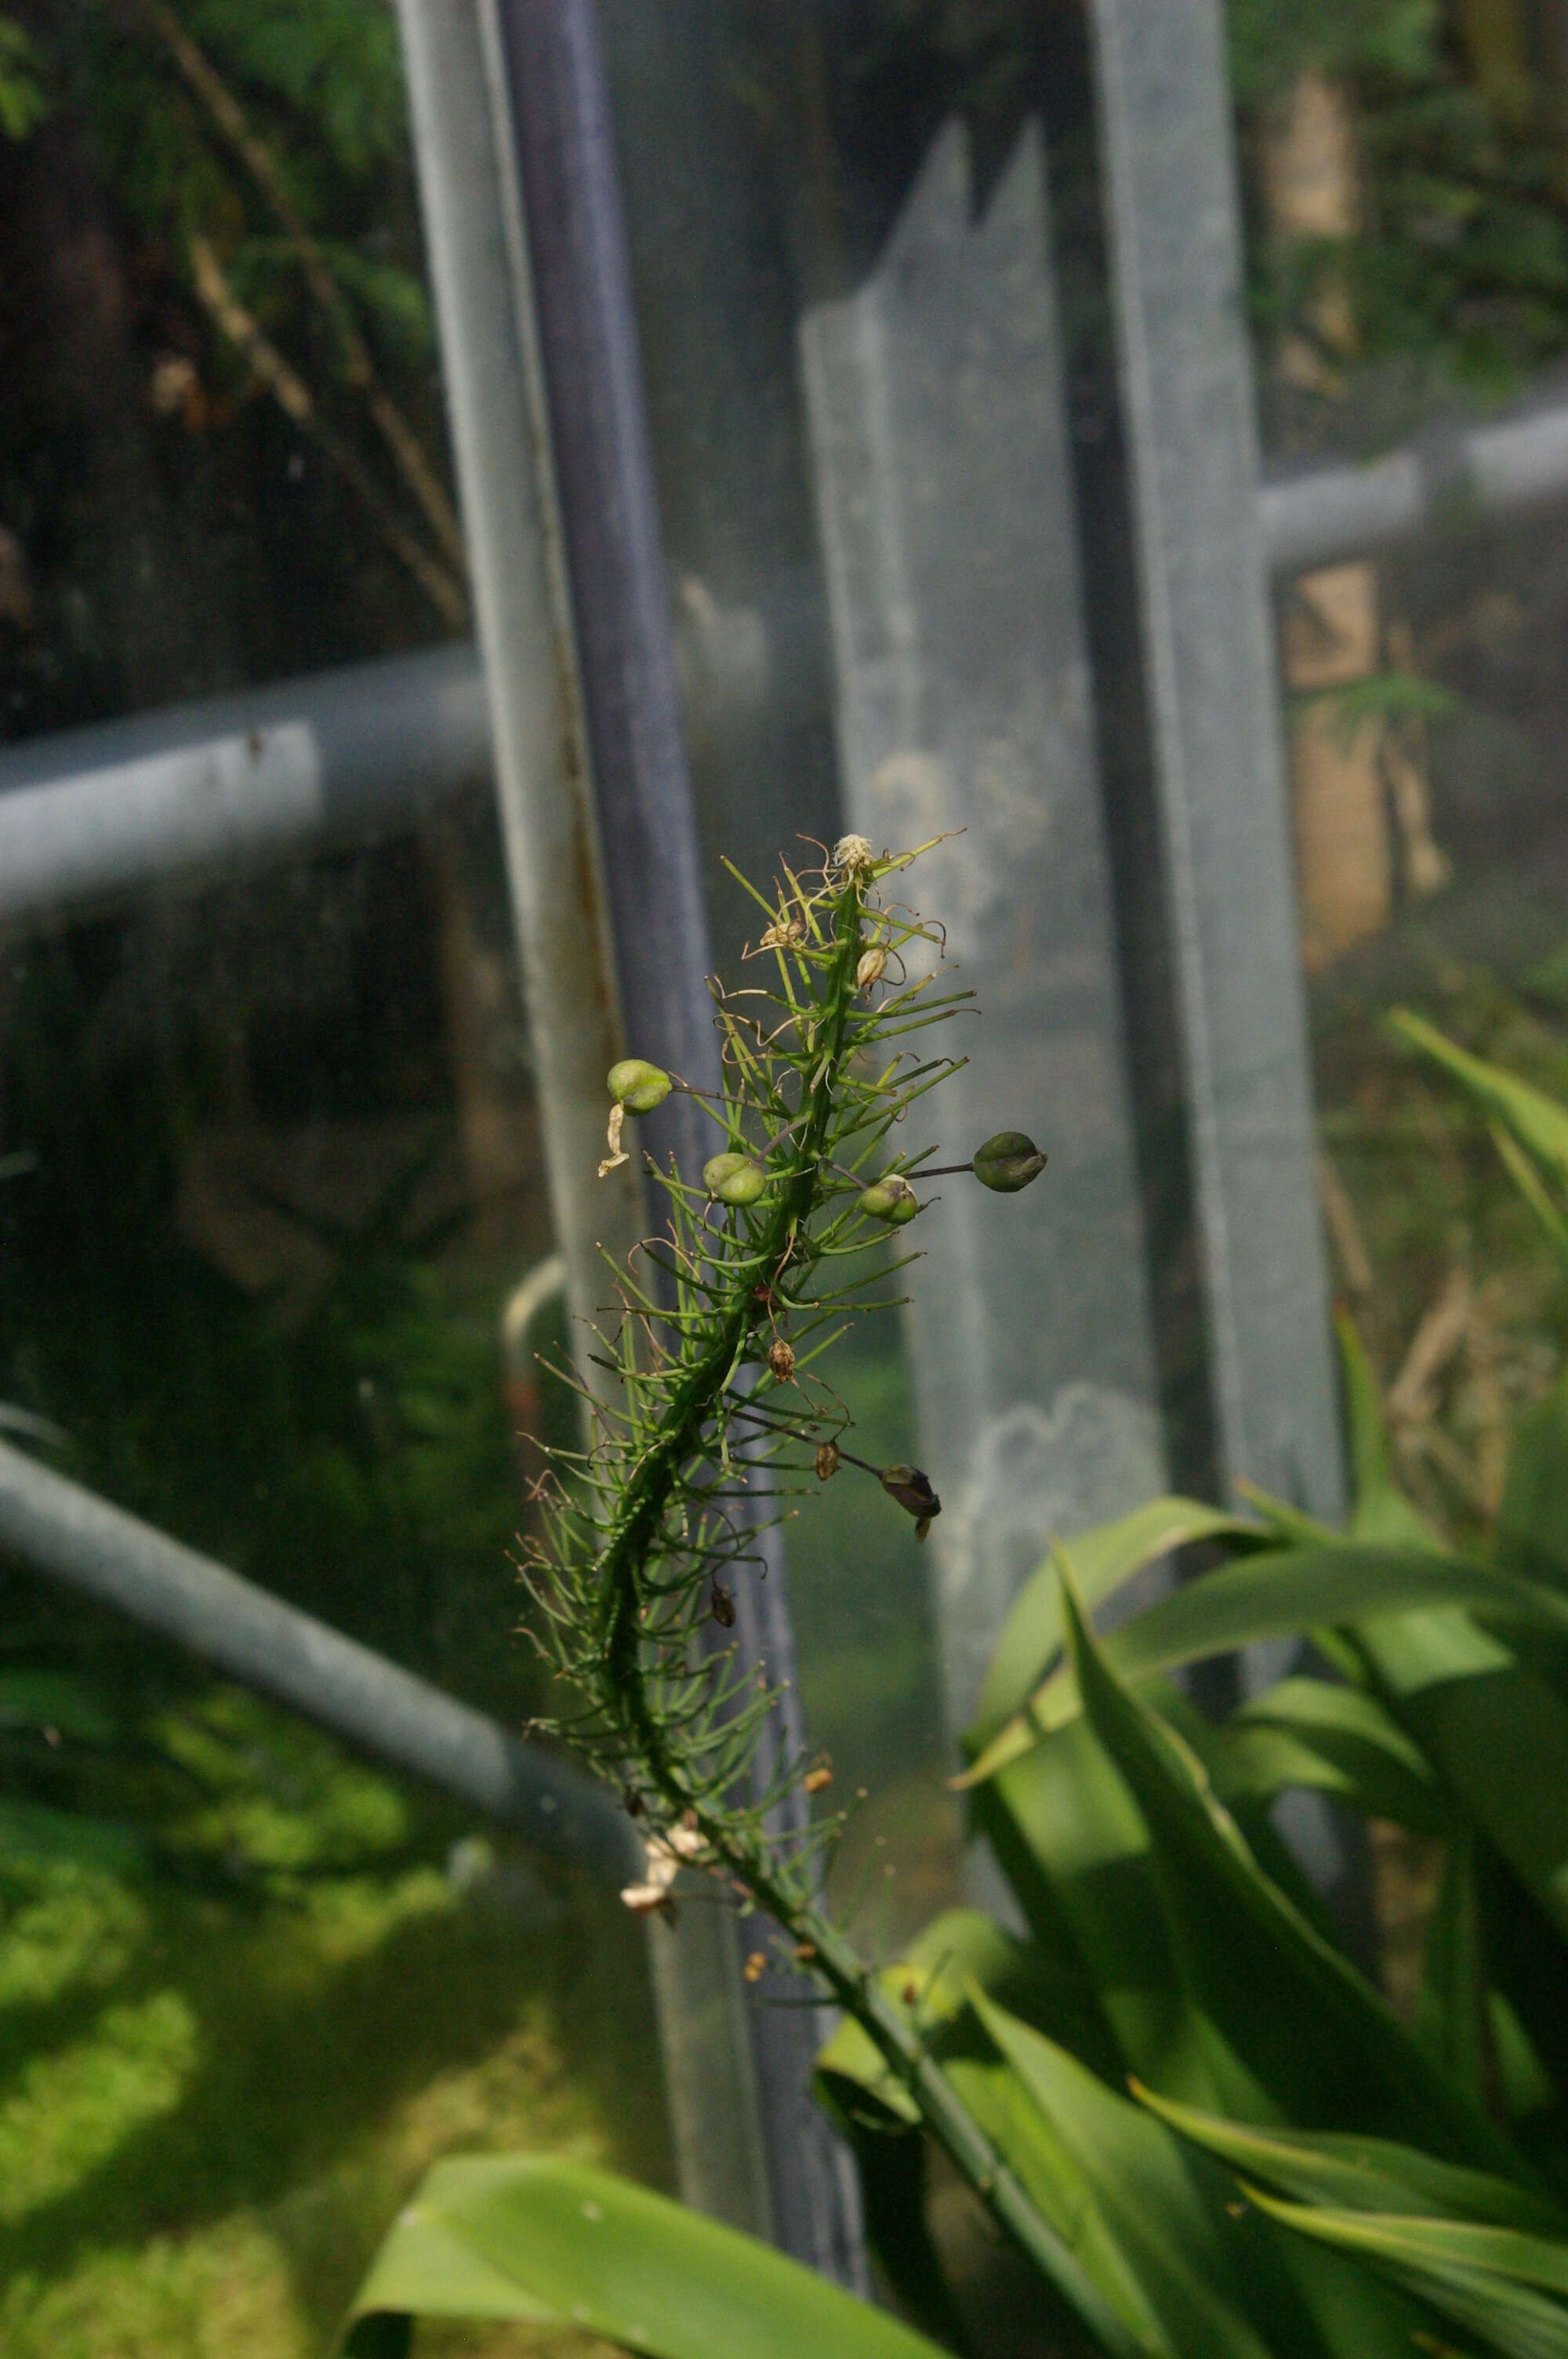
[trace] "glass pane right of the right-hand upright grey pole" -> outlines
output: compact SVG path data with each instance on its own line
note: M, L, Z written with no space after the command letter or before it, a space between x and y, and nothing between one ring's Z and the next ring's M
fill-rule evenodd
M1228 31L1269 472L1299 517L1342 500L1276 571L1323 1213L1401 1484L1493 1545L1561 1255L1389 1014L1563 1095L1563 35L1526 0L1231 0ZM1408 2000L1434 1859L1375 1849Z

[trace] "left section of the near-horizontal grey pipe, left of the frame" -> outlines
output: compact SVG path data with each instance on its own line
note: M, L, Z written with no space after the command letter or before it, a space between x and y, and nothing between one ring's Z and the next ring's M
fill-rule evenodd
M31 738L0 750L0 925L398 826L488 769L467 644Z

